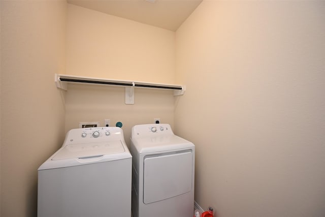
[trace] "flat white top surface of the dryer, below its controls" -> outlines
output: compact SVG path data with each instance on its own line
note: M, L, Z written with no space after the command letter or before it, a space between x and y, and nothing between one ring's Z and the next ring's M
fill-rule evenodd
M194 144L176 135L133 138L139 153L192 148Z

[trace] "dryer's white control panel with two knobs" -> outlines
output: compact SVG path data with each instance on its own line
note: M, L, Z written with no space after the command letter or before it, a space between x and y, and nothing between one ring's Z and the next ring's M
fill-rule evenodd
M174 133L168 123L136 125L132 128L132 138L151 137L158 135L174 135Z

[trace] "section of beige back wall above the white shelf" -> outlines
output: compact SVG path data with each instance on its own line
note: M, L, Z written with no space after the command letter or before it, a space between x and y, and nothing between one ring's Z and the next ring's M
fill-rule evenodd
M68 4L67 74L173 83L175 32Z

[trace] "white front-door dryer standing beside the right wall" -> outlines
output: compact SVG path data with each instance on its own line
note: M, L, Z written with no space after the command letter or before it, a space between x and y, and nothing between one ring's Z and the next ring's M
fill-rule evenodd
M194 144L168 124L132 128L134 217L190 217L194 206Z

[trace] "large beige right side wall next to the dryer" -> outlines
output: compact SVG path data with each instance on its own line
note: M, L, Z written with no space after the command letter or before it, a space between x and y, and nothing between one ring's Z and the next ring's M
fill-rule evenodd
M218 216L324 216L325 2L204 1L176 32L176 133Z

